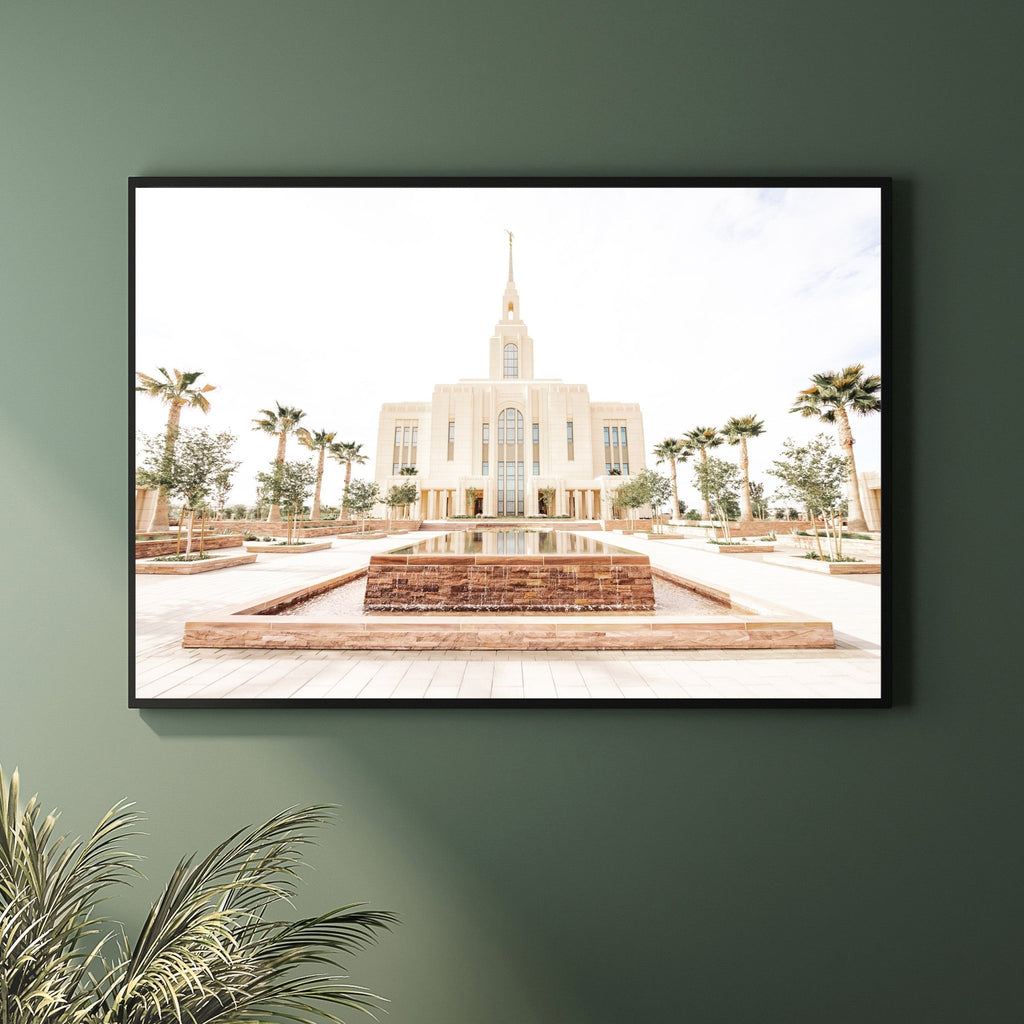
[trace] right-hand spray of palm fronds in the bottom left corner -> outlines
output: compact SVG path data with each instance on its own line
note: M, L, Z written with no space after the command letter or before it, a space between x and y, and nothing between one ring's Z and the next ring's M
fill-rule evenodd
M125 1021L137 1017L141 1024L159 1007L205 1024L264 1019L242 1016L247 1008L313 1013L308 998L376 1005L376 996L341 978L301 972L339 966L339 956L364 948L393 914L348 906L291 923L265 920L275 903L291 899L301 850L327 812L321 806L283 811L236 833L198 863L178 864L131 950L116 1004Z

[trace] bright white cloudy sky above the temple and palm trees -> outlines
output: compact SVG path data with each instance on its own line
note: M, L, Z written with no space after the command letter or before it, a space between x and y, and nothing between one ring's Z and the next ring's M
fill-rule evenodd
M663 472L657 441L757 414L751 477L770 495L782 441L830 431L788 413L809 376L881 373L880 203L823 187L139 188L136 369L216 385L210 414L181 425L238 435L231 504L274 456L251 427L279 401L361 442L353 475L372 479L382 402L486 377L510 228L537 376L639 402ZM166 407L138 395L136 410L162 432ZM878 470L881 417L853 430L858 470ZM691 477L679 467L692 507ZM329 460L325 504L343 479Z

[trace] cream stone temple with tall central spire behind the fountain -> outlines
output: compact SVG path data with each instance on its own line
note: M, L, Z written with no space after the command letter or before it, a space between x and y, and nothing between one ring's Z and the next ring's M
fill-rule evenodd
M424 368L426 369L426 368ZM387 402L377 483L411 480L423 519L456 515L611 517L611 495L645 467L636 402L591 401L586 384L538 378L512 272L485 378L437 384L429 401ZM415 467L416 475L401 473Z

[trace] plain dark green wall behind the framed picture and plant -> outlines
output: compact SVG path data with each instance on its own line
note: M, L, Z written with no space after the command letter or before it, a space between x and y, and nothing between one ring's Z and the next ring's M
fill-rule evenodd
M1020 1019L1012 6L2 3L4 767L155 883L338 803L396 1024ZM126 178L310 173L893 175L897 708L128 711Z

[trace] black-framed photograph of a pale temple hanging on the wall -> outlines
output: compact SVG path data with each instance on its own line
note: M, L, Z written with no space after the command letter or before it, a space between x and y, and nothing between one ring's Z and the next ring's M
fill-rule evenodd
M130 707L889 707L891 202L130 179Z

